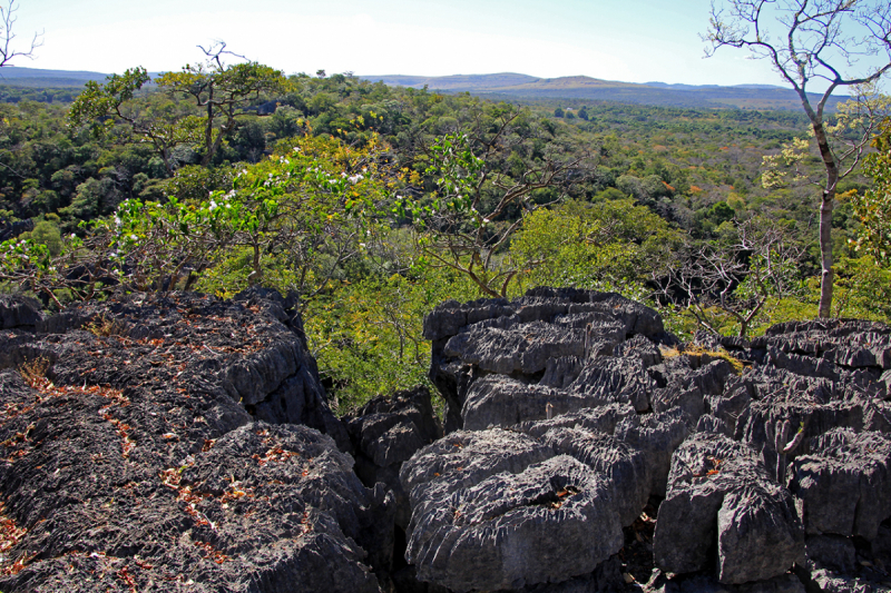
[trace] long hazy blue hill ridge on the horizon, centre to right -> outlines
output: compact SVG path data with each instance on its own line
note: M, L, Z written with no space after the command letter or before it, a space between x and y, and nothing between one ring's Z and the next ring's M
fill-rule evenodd
M642 105L741 108L741 109L801 109L799 96L791 89L770 85L668 85L665 82L618 82L586 76L561 78L536 78L513 72L497 75L458 75L444 77L422 76L363 76L365 80L385 85L412 87L444 92L471 92L493 95L500 98L530 99L580 99L591 101L618 101ZM819 100L816 95L812 96ZM846 100L844 96L832 97L828 109Z

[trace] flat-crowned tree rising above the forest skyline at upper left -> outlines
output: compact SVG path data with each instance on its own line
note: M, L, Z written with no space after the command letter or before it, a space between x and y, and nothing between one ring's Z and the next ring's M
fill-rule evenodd
M182 72L166 72L156 82L173 96L188 97L204 110L202 165L206 167L224 137L235 130L244 108L265 92L282 90L285 78L281 70L257 62L226 65L226 55L242 56L227 51L222 41L200 49L207 61L186 65Z

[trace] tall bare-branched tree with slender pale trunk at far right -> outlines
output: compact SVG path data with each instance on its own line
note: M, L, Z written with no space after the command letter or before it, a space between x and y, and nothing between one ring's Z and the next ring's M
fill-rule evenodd
M726 6L728 14L721 7ZM891 4L885 0L725 0L712 4L706 56L730 46L771 61L801 99L825 169L820 202L821 287L819 316L832 306L832 211L840 179L839 156L824 123L824 108L840 87L866 85L891 68ZM849 75L863 57L877 66ZM826 85L822 95L809 83ZM816 101L815 105L812 101Z

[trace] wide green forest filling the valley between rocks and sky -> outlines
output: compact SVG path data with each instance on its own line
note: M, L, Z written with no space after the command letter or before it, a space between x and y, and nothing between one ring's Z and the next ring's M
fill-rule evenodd
M0 87L0 289L50 309L296 294L341 412L427 380L423 316L447 299L617 291L684 339L817 316L825 171L801 111L508 102L224 58ZM839 155L861 147L831 315L889 322L891 125L864 137L853 102L826 121Z

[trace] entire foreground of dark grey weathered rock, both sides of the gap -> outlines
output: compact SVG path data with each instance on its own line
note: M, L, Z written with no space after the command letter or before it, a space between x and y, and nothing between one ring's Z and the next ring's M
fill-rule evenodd
M891 328L447 303L443 431L423 388L337 419L293 305L0 300L0 590L887 589Z

